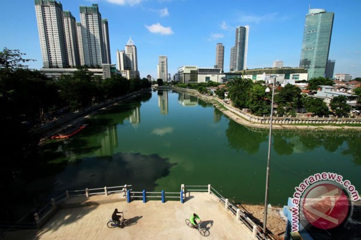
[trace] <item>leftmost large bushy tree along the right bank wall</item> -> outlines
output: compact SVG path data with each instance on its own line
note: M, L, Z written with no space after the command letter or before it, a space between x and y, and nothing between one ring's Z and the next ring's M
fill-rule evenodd
M249 91L254 85L252 80L235 77L227 86L229 86L229 98L236 108L248 108Z

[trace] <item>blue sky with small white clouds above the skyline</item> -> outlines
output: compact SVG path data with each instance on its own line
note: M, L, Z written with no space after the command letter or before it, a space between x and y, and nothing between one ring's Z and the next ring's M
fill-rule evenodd
M349 0L61 0L77 21L79 5L99 4L108 18L112 63L116 50L132 37L138 49L140 76L157 77L159 55L168 56L172 75L182 65L213 67L216 44L225 45L225 71L235 27L249 25L248 68L271 67L276 59L298 67L305 14L311 8L334 12L330 59L335 73L361 77L361 1ZM1 1L0 47L20 49L42 67L33 0Z

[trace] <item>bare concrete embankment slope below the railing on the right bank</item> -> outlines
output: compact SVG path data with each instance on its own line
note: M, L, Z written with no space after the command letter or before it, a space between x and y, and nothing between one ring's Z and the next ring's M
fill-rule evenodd
M244 126L247 126L249 128L257 128L257 129L269 129L269 118L266 117L265 118L265 123L257 123L257 122L252 122L252 121L248 121L248 119L252 118L262 118L262 117L257 117L257 116L252 116L252 114L247 113L247 115L245 115L245 113L243 113L242 111L240 111L239 109L236 109L234 107L232 107L230 104L226 104L224 103L222 100L214 97L214 96L207 96L207 95L203 95L200 94L198 91L196 90L190 90L190 89L183 89L183 88L179 88L179 87L172 87L171 89L176 90L176 91L180 91L180 92L184 92L193 96L197 96L198 98L207 101L209 103L213 103L214 106L220 110L222 113L224 113L225 115L227 115L229 118L231 118L232 120L234 120L235 122L242 124ZM248 119L247 119L248 118ZM277 118L275 118L277 119ZM292 119L296 119L296 118L292 118ZM334 126L334 125L317 125L314 123L321 123L321 121L323 120L322 118L320 119L316 119L313 118L310 122L310 124L307 125L301 125L302 121L305 121L304 119L299 119L298 123L296 123L296 120L294 121L289 121L287 120L287 118L285 118L284 121L287 121L288 124L279 124L279 123L275 123L273 121L273 125L272 125L272 129L273 130L284 130L284 131L288 131L288 130L306 130L306 131L347 131L347 132L354 132L354 131L361 131L361 124L360 126L347 126L347 125L342 125L342 122L346 122L349 119L342 119L339 118L338 120L338 124L340 124L340 126ZM268 122L267 122L268 120ZM295 122L295 123L292 123ZM326 120L325 120L326 122ZM328 121L330 122L330 121ZM351 122L351 121L349 121ZM360 122L361 123L361 122ZM311 125L312 124L312 125Z

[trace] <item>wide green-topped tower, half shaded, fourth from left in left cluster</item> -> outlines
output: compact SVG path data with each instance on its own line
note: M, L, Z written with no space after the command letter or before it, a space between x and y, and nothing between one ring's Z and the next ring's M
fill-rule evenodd
M105 63L103 30L98 4L80 6L84 63L96 66Z

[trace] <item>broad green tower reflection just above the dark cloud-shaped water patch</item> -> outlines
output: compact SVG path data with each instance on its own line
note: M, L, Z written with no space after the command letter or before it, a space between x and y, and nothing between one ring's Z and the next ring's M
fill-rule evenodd
M100 149L96 150L97 156L111 156L114 154L115 149L118 146L118 132L116 125L106 126L105 131L98 138L100 143Z

